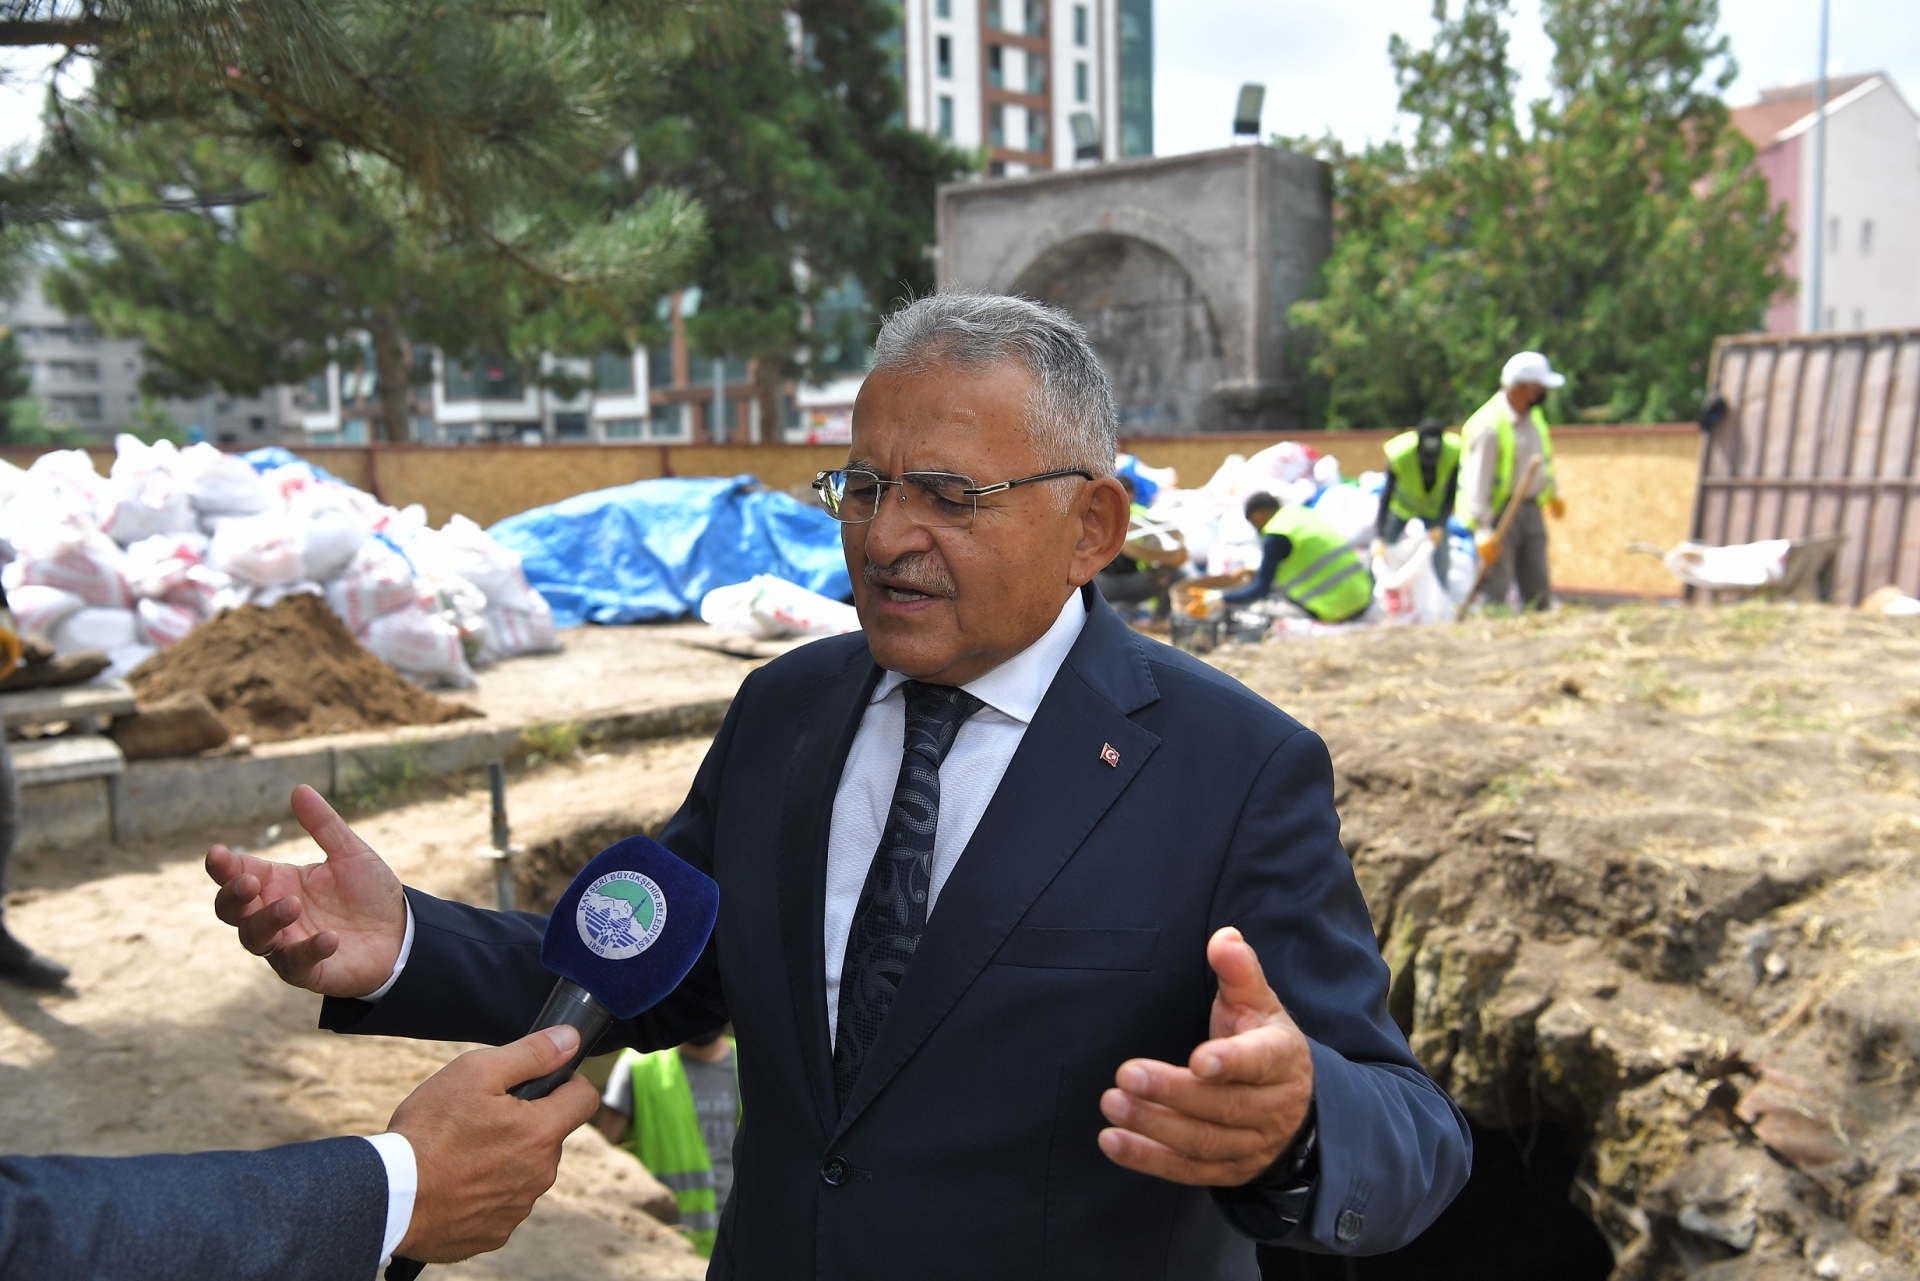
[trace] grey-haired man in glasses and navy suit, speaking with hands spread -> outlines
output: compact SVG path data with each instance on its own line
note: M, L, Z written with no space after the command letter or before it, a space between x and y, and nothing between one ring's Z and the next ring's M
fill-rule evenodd
M1388 1250L1465 1183L1327 747L1089 588L1112 471L1071 317L943 294L883 325L816 486L864 630L741 688L660 837L720 882L712 943L612 1033L735 1027L712 1277L1252 1277L1254 1241ZM403 891L301 805L326 862L209 870L324 1026L528 1026L540 918Z

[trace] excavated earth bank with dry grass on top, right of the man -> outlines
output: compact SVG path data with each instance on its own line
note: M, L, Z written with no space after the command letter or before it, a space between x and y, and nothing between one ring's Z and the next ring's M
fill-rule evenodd
M1920 1275L1920 626L1571 611L1215 663L1327 737L1394 1018L1482 1135L1569 1135L1615 1281ZM1480 1214L1450 1235L1513 1231Z

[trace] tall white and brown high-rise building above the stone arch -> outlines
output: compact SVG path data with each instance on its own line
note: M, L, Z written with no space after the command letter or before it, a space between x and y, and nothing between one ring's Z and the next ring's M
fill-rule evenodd
M989 177L1154 154L1152 0L906 0L906 123Z

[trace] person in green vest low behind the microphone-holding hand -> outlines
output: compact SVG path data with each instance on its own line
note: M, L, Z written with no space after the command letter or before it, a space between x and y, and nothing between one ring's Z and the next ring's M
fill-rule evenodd
M733 1039L712 1033L680 1049L614 1060L595 1122L674 1193L680 1229L712 1256L720 1208L733 1191L739 1070Z

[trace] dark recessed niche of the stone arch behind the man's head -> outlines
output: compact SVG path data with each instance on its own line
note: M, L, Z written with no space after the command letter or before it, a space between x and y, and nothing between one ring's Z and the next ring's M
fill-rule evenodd
M1004 292L1069 311L1114 382L1123 432L1169 432L1212 415L1225 380L1206 290L1158 244L1092 232L1054 244Z

